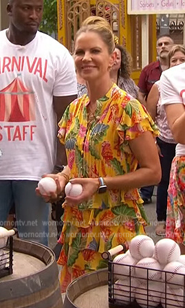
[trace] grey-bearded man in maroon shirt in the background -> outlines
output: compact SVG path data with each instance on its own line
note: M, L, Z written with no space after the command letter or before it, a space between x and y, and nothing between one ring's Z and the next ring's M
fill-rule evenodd
M173 39L168 34L163 34L157 39L157 56L158 59L155 62L146 65L140 74L140 79L138 83L138 100L144 106L146 106L146 100L148 98L149 92L153 84L160 80L160 76L165 69L168 69L168 52L173 46ZM154 186L142 187L140 190L142 199L145 204L149 204L152 201Z

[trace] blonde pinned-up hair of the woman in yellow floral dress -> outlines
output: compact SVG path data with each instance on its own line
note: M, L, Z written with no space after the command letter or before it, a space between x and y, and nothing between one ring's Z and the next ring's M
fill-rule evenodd
M76 32L76 39L78 39L78 36L83 32L96 32L100 35L102 41L107 45L109 54L112 54L115 50L115 44L114 44L114 36L113 32L111 30L111 26L109 23L103 19L102 17L98 16L90 16L83 21L81 28Z

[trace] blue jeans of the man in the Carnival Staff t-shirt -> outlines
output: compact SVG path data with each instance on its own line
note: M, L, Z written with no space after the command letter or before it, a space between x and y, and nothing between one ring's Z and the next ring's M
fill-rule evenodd
M38 181L0 181L0 225L14 205L20 238L48 245L49 204L36 195L37 184Z

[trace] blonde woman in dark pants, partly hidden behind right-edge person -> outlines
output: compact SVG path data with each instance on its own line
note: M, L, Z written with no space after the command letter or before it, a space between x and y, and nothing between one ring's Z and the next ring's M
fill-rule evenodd
M183 45L173 45L171 51L168 52L168 65L173 67L185 62L185 47ZM151 88L146 108L151 114L153 120L157 124L160 135L156 138L158 152L160 155L160 163L162 167L162 179L157 186L157 221L158 225L155 229L157 235L165 235L166 233L166 208L168 197L168 184L171 170L171 162L175 156L176 142L173 138L171 130L166 119L164 106L161 105L160 80Z

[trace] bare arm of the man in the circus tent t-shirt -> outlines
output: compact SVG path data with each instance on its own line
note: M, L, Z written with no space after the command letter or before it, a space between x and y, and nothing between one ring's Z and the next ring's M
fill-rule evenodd
M56 112L57 116L57 123L61 120L62 115L67 108L68 104L75 100L77 95L72 96L54 96L53 97L53 104L54 104L54 111ZM58 127L58 126L57 126ZM57 128L58 130L58 128ZM57 135L57 134L56 134ZM54 168L54 172L57 171L56 166L62 166L67 164L67 158L65 154L65 146L61 144L57 137L57 148L56 148L56 164ZM55 170L56 169L56 170Z

